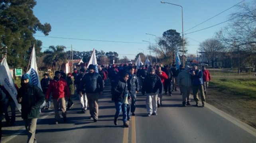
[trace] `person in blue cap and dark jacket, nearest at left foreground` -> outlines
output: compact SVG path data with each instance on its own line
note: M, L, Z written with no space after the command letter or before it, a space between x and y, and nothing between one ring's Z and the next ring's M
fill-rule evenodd
M36 122L39 117L40 106L44 102L44 94L40 88L32 84L30 75L27 73L22 75L17 100L22 106L21 114L28 135L27 143L36 143Z

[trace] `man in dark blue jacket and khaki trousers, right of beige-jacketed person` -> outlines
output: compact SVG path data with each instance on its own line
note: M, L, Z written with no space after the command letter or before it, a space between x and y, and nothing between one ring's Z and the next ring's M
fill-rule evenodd
M203 91L203 72L196 65L192 69L192 90L194 101L198 107L198 90L200 91L202 106L205 107L205 92Z

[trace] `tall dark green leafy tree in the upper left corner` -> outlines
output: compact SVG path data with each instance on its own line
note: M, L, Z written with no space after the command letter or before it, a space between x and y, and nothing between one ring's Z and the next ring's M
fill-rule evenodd
M35 0L0 0L0 47L7 48L7 61L13 67L26 67L30 58L31 46L41 50L41 42L33 34L41 31L48 35L51 25L40 21L33 15Z

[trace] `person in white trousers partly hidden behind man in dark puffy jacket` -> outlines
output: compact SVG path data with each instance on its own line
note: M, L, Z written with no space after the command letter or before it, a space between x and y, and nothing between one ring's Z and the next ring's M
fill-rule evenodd
M87 110L87 105L88 105L88 99L87 99L87 95L85 93L85 89L79 89L80 88L80 83L81 80L83 78L83 76L85 76L85 69L81 68L79 70L79 74L77 75L77 77L75 78L75 85L77 86L77 94L79 94L80 90L82 91L82 94L79 94L79 100L81 103L81 113L85 113Z

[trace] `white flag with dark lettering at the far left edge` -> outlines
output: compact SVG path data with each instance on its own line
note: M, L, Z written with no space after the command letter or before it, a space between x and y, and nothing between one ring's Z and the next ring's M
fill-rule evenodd
M0 73L1 73L0 82L4 85L4 88L8 91L8 93L11 95L12 99L14 100L17 109L21 112L21 105L17 101L18 92L14 86L12 74L10 72L9 66L5 58L1 62Z

